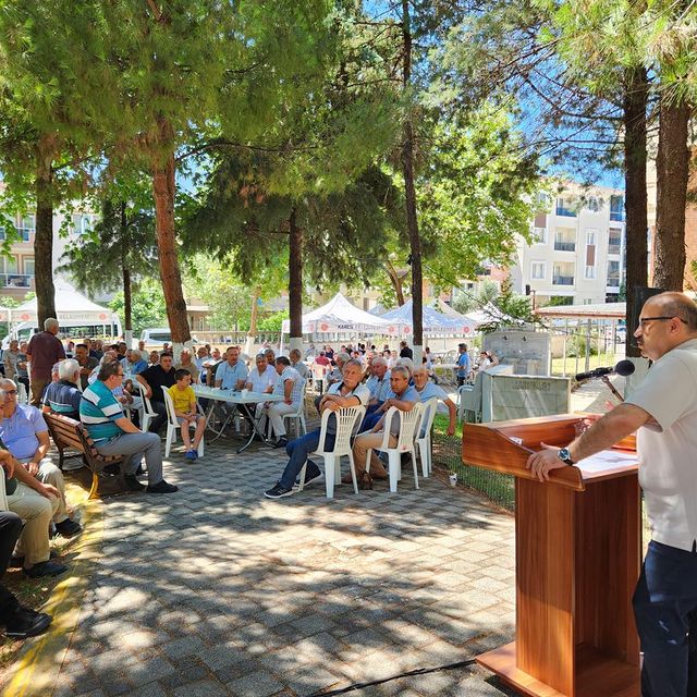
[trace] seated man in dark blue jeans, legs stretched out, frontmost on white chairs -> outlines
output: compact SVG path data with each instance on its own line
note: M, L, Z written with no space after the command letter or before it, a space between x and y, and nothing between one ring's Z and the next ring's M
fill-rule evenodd
M329 388L327 394L322 396L320 411L331 409L337 412L347 406L358 406L367 404L369 391L365 384L360 384L363 369L356 360L346 360L344 364L343 381L337 382ZM319 467L311 461L307 460L309 453L319 445L319 435L321 429L317 428L301 438L297 438L285 447L289 454L289 462L281 475L279 481L269 489L264 496L267 499L282 499L293 493L293 485L298 476L305 462L307 462L307 470L305 473L305 484L310 484L321 477ZM337 418L329 418L327 424L327 435L325 439L325 448L331 451L334 447L334 438L337 436Z

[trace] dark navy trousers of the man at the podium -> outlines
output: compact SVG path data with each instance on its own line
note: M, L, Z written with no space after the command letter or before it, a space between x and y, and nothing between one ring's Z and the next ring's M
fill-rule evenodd
M634 591L643 697L697 697L697 551L649 543Z

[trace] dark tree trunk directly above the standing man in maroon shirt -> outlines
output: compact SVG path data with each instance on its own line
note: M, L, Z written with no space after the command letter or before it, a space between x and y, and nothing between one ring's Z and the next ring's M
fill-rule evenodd
M34 279L38 326L56 317L53 286L53 144L50 137L36 148L36 232L34 235Z

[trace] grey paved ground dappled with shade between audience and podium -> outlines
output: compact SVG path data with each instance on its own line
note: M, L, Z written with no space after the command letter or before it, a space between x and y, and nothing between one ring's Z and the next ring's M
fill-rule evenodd
M433 478L261 493L285 455L219 441L166 463L174 496L105 500L102 555L56 697L308 697L511 640L514 524ZM513 693L478 668L351 693Z

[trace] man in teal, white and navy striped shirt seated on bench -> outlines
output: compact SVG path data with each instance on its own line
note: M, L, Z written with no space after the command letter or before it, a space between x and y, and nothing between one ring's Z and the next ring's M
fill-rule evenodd
M123 413L112 390L123 381L123 366L108 360L99 368L97 379L83 392L80 419L95 447L102 455L131 455L125 465L125 485L131 491L145 489L147 493L172 493L176 487L162 478L162 444L157 433L144 433ZM136 470L145 457L148 486L136 478Z

